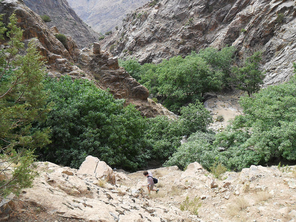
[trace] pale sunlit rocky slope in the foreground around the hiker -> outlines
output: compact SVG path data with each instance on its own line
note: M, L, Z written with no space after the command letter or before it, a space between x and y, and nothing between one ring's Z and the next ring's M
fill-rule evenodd
M96 157L86 157L79 170L49 162L39 162L38 169L40 177L22 191L15 214L4 210L9 222L296 221L295 167L252 165L241 173L226 172L221 180L197 162L185 171L152 169L160 192L150 196L141 186L147 183L143 171L114 172ZM187 196L190 201L196 197L188 206L197 207L198 215L180 210Z

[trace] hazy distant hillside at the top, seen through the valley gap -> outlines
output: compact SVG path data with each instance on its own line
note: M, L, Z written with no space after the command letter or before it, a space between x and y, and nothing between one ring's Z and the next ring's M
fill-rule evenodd
M147 0L67 0L75 12L97 32L105 33L120 25L131 10Z

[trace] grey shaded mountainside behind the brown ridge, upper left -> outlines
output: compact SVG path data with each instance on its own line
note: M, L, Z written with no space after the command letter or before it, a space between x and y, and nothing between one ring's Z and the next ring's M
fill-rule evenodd
M38 15L48 15L51 22L46 25L56 26L65 35L72 36L80 48L90 46L99 38L99 34L88 27L66 0L24 0L25 4Z

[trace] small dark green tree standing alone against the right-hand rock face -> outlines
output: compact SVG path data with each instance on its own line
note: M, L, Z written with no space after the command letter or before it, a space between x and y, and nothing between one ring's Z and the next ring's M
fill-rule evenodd
M249 96L258 92L260 85L263 84L263 78L265 76L263 72L259 70L262 54L263 53L260 51L255 52L244 61L243 67L236 67L234 69L237 88L247 91Z

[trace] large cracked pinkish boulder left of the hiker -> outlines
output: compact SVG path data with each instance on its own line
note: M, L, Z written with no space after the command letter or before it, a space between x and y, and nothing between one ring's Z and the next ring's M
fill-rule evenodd
M97 157L87 156L77 173L89 174L115 185L115 173L110 166L104 161L100 161Z

